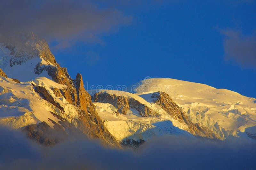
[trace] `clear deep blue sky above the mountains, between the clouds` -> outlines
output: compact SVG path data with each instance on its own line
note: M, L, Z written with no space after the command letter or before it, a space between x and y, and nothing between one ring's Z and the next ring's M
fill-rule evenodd
M228 58L223 45L227 32L238 32L241 43L253 39L255 2L182 1L116 8L132 19L99 34L101 43L80 40L60 49L50 44L71 77L81 73L89 85L104 87L131 85L146 76L174 78L256 97L256 67Z

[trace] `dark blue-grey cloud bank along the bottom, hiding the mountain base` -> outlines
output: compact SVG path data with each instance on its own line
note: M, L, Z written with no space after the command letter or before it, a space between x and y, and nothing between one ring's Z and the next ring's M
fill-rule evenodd
M0 169L253 169L256 141L169 136L136 150L105 148L85 138L44 147L19 131L0 128Z

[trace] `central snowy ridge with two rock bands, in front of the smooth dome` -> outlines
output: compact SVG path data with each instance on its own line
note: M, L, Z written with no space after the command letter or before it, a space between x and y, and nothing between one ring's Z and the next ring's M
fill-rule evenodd
M147 101L144 98L147 99ZM181 109L171 99L171 97L164 92L155 92L140 97L123 91L101 90L100 92L94 94L92 101L97 102L95 105L97 108L99 108L98 113L100 117L103 120L106 120L106 127L115 137L116 135L120 136L120 133L122 132L120 132L118 128L112 129L112 126L115 124L115 122L120 123L124 121L122 122L122 126L126 126L127 124L129 127L128 131L139 131L140 129L132 128L132 126L136 127L135 124L138 122L147 122L147 124L152 125L152 127L148 126L143 128L146 131L152 128L157 129L159 132L154 132L154 135L156 136L178 132L175 130L176 127L184 131L188 131L189 133L198 137L221 139L208 127L192 123L188 119L188 116L183 111L183 109ZM104 106L100 103L110 104L109 107L112 107L112 115L114 116L112 119L106 118L106 114L104 114L104 110L108 110L110 113L111 110L106 109L106 105ZM113 111L116 111L116 113ZM119 113L122 114L122 116L118 115ZM169 124L167 122L169 122ZM132 124L132 126L130 124ZM115 126L117 125L115 124ZM171 127L172 129L170 129ZM122 129L122 127L119 129ZM140 134L141 133L143 132L140 131ZM179 133L182 132L179 131ZM140 141L147 140L152 137L150 134L149 136L147 135L142 135L141 137L139 137L140 135L137 135L137 137L134 135L124 135L122 138L116 138L118 140L122 140L122 142L125 142L126 138L129 140Z

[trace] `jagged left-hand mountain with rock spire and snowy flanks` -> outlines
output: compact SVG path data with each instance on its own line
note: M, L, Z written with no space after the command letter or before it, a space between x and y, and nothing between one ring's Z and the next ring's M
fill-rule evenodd
M55 130L56 127L60 129L58 126L70 131L60 123L64 118L67 119L65 124L72 123L87 137L99 138L104 143L119 146L98 116L91 96L84 90L82 75L77 74L75 80L71 79L67 69L60 67L56 62L46 41L38 39L34 34L23 36L21 39L22 43L17 46L1 44L0 66L3 70L0 73L3 77L0 86L3 90L0 104L4 105L1 112L17 110L18 113L2 115L0 122L12 128L38 131L39 135L41 132L47 134L49 129ZM17 85L13 79L4 79L7 76L27 82ZM42 86L42 88L34 86ZM17 91L22 95L16 93ZM6 102L8 98L10 99ZM23 103L24 100L27 102ZM18 101L21 102L20 106L17 106ZM39 109L40 105L41 109ZM42 131L42 128L45 131ZM43 139L38 139L45 135L31 135L31 131L28 132L30 137L34 136L37 141L45 143Z

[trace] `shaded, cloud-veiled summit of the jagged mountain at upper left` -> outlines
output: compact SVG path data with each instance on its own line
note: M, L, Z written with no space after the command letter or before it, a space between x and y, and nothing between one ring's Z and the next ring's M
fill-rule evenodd
M0 67L8 77L31 81L40 75L51 79L43 72L49 66L58 67L59 64L47 42L33 32L19 33L15 39L0 43Z

